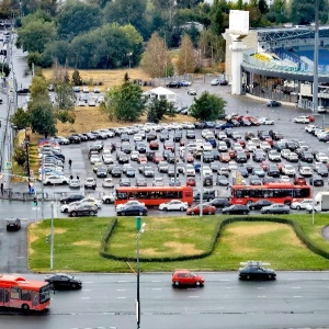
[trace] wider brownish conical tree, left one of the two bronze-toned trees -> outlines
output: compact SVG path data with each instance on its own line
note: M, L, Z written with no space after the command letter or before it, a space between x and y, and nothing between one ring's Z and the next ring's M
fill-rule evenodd
M162 37L154 33L143 55L141 67L151 78L168 77L172 64Z

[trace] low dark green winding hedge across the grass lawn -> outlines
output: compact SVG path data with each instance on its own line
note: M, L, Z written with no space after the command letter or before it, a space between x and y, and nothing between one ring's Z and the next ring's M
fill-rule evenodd
M287 224L291 225L296 234L296 236L306 245L306 247L311 250L313 252L329 259L329 252L322 250L314 241L311 241L303 231L302 226L299 223L286 219L286 218L280 218L280 217L257 217L257 216L248 216L248 217L229 217L226 219L223 219L218 223L215 234L211 240L209 248L205 252L197 253L197 254L188 254L188 256L178 256L178 257L162 257L162 258L156 258L156 257L141 257L139 259L140 262L175 262L175 261L188 261L188 260L195 260L195 259L202 259L211 256L216 247L217 241L220 238L222 231L224 230L225 226L228 224L237 223L237 222L270 222L270 223L280 223L280 224ZM111 238L111 236L114 232L114 229L117 225L117 218L115 218L112 224L110 225L107 231L104 235L104 238L101 243L101 250L100 254L103 258L112 259L115 261L125 261L125 262L134 262L136 261L136 258L132 257L124 257L124 256L116 256L113 253L107 252L107 243Z

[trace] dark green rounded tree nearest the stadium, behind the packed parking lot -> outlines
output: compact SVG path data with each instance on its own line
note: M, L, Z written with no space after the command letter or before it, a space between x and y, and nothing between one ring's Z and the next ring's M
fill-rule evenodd
M215 121L225 113L225 100L204 91L198 99L194 98L194 104L190 107L190 113L200 121Z

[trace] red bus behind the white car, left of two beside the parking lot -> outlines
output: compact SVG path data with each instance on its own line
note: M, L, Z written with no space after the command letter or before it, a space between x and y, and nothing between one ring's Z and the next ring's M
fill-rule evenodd
M193 189L191 186L120 186L115 189L115 205L131 200L144 202L146 206L158 206L170 200L181 200L193 203Z

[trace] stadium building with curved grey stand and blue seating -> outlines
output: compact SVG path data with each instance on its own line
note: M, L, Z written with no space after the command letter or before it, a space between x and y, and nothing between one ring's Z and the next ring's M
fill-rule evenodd
M249 29L248 33L238 37L230 27L224 37L226 79L229 82L234 80L232 61L237 58L232 56L232 45L240 37L240 93L313 109L314 26L286 24L282 27ZM319 26L318 58L318 104L329 107L329 25ZM236 93L239 93L239 89Z

